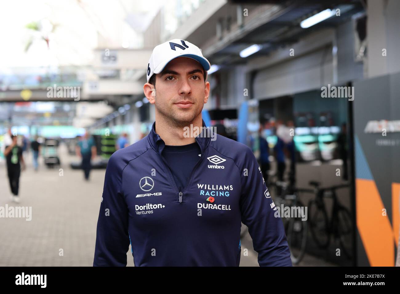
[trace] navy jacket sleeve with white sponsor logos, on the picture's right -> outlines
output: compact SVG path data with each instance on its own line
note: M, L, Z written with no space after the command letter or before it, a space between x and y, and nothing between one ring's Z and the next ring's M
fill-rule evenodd
M262 177L254 154L247 146L241 167L242 222L248 226L260 266L292 266L283 222ZM275 210L274 210L275 209Z

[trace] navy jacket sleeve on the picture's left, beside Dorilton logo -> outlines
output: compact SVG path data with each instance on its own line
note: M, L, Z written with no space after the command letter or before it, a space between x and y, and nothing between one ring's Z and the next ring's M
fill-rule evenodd
M126 266L128 207L121 193L123 166L118 166L115 155L108 161L104 178L93 266Z

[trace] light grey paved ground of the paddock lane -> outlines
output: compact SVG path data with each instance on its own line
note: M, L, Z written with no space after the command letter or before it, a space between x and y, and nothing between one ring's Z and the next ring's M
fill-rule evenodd
M92 170L86 182L83 171L69 167L76 158L61 146L62 173L43 165L34 172L31 155L25 156L28 164L20 178L19 204L9 198L5 163L0 162L0 206L32 208L30 221L0 218L0 266L92 266L105 170ZM246 233L246 228L242 231ZM249 248L249 255L241 257L240 265L258 266L248 233L242 248ZM130 249L127 260L128 266L134 265ZM307 255L300 265L331 264Z

